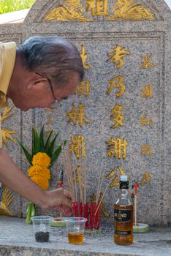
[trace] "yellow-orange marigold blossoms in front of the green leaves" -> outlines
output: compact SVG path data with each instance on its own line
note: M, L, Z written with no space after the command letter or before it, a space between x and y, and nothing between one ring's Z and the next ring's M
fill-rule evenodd
M34 181L42 189L49 187L50 170L50 157L46 153L39 152L34 155L32 159L32 166L28 169L28 176L31 181Z

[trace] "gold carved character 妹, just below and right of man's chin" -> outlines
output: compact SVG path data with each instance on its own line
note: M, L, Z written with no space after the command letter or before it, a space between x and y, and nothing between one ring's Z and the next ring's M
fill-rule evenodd
M82 103L80 103L80 108L76 108L75 105L73 104L72 111L69 113L66 113L66 116L69 116L69 121L72 122L73 124L77 124L77 122L79 122L79 126L83 127L83 121L85 121L85 123L87 124L91 123L91 121L85 117L86 116L86 113L84 112L85 109L86 108L83 107Z

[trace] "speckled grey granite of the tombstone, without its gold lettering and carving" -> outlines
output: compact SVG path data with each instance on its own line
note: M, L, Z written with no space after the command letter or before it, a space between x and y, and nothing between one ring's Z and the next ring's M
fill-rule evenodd
M0 41L15 40L17 44L24 39L37 34L58 34L71 40L81 52L84 45L91 69L86 70L85 79L91 82L90 95L73 96L62 102L61 111L53 111L53 124L47 124L46 110L30 110L20 113L14 110L12 121L7 121L4 127L12 127L18 131L18 139L25 146L31 148L31 127L39 129L45 124L45 129L60 131L61 140L70 140L73 135L84 135L86 140L87 170L88 170L88 197L95 191L98 183L99 170L106 170L105 175L114 169L117 175L118 166L132 178L139 182L143 173L151 174L151 184L145 184L139 189L138 194L138 221L150 225L167 225L171 222L171 171L170 171L170 63L171 63L171 12L162 0L136 0L135 4L149 8L155 15L155 20L114 20L107 21L105 15L91 17L91 11L85 14L92 18L92 22L59 22L57 20L45 21L47 13L65 1L37 0L28 12L23 24L7 24L0 26ZM69 1L68 1L69 2ZM86 1L82 3L86 10ZM102 3L103 1L101 1ZM116 0L106 1L111 12ZM122 1L120 1L122 2ZM127 1L129 2L129 1ZM124 57L125 64L117 69L111 62L107 62L107 53L116 45L121 45L129 50L129 55ZM142 56L151 56L155 67L140 68ZM122 97L117 98L113 89L109 89L108 80L122 75L126 91ZM153 97L143 98L142 89L145 85L153 86ZM71 111L72 103L79 106L80 102L86 107L86 118L91 124L83 127L68 122L67 112ZM123 127L110 129L113 118L110 111L114 105L123 106ZM145 114L151 117L153 125L141 127L140 121ZM126 138L128 143L126 159L107 157L106 141L110 138ZM153 157L140 154L141 146L151 145ZM21 154L18 146L9 143L9 154L26 173L28 163ZM64 167L62 159L52 168L52 181L50 187L56 187L58 173ZM112 180L112 178L111 178ZM105 181L104 187L108 181ZM95 185L94 185L95 184ZM65 183L66 185L66 183ZM102 188L104 190L104 187ZM118 188L108 189L105 195L105 211L110 214L104 221L113 221L113 203L117 197ZM15 195L12 211L17 216L25 216L26 200ZM153 205L153 207L151 207ZM48 214L48 212L46 212ZM51 214L51 212L50 212ZM56 212L53 212L56 215Z

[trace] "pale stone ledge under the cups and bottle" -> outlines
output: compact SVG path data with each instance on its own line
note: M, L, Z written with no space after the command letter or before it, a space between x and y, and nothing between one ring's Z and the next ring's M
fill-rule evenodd
M51 227L50 241L37 243L32 225L24 219L0 217L1 256L166 256L171 255L171 227L151 227L149 233L134 234L132 246L113 243L113 227L99 234L86 234L83 245L68 244L65 228Z

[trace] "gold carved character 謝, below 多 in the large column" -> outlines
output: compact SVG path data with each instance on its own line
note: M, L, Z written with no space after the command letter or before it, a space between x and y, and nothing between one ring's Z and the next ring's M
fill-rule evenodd
M123 138L123 143L121 142L120 138L116 138L115 140L113 138L110 138L110 141L107 141L107 155L108 157L118 157L118 159L126 158L126 146L128 143L126 143L126 139Z

